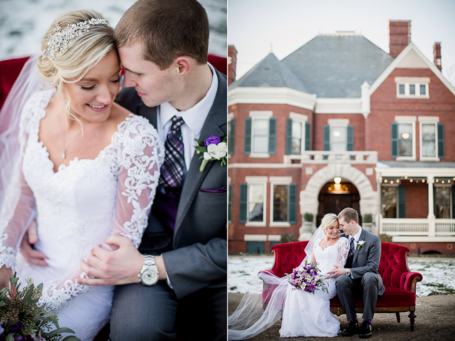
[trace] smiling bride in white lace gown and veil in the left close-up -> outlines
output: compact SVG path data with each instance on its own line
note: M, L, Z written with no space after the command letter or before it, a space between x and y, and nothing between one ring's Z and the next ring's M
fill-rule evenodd
M121 67L113 29L99 13L61 15L42 50L0 112L0 284L13 271L22 283L43 283L40 303L92 340L109 320L113 286L79 284L86 277L79 262L112 234L139 246L164 148L145 118L114 103ZM38 74L46 87L33 92ZM46 267L17 254L34 220Z

